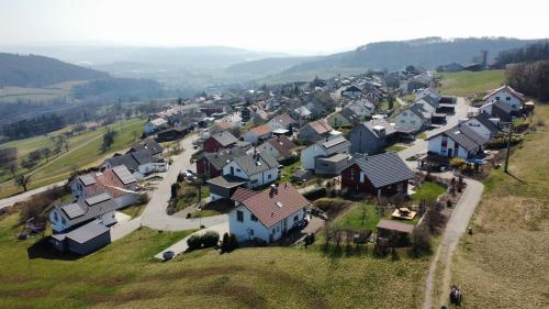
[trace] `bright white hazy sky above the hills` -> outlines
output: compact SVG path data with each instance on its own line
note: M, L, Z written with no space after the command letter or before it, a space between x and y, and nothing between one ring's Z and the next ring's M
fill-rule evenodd
M0 45L225 45L330 53L432 35L548 37L548 12L545 0L0 0Z

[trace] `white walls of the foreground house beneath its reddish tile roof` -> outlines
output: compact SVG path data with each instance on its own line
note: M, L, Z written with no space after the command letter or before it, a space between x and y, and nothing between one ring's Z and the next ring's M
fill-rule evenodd
M238 211L243 213L243 221L238 221ZM269 243L280 240L284 227L288 231L293 227L294 222L302 220L303 216L303 209L298 210L288 216L284 220L267 229L259 220L254 221L251 219L251 212L246 207L238 206L228 213L228 230L239 242L249 241L256 238Z

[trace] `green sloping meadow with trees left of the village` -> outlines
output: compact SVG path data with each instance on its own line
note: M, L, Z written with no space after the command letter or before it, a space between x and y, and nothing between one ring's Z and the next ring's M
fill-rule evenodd
M70 148L68 152L63 152L58 156L52 157L47 163L45 159L42 159L42 163L37 167L32 170L20 170L20 173L32 175L30 189L63 180L70 175L74 168L80 169L100 164L101 161L109 157L114 152L126 148L136 141L135 134L137 133L137 136L139 135L143 131L144 123L145 120L132 119L110 125L112 130L119 133L109 153L101 152L104 129L98 129L70 137ZM52 135L55 134L59 134L59 132L57 131ZM29 141L14 141L3 144L2 147L15 146L18 151L21 148L19 155L23 156L23 154L27 154L33 150L51 145L53 143L51 140L52 135L35 136L27 139ZM0 197L13 195L19 190L20 189L13 185L11 179L0 184Z

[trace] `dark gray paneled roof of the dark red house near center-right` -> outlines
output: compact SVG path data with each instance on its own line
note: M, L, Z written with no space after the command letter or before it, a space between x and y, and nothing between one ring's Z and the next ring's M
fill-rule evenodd
M351 161L365 173L376 188L404 181L415 177L414 172L396 153L383 153L372 156L358 154Z

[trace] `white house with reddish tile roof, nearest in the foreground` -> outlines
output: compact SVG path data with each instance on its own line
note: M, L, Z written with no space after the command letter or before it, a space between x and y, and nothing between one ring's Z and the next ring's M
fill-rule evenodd
M291 185L274 185L264 191L238 188L235 208L228 213L228 229L239 242L280 240L305 217L311 202Z

